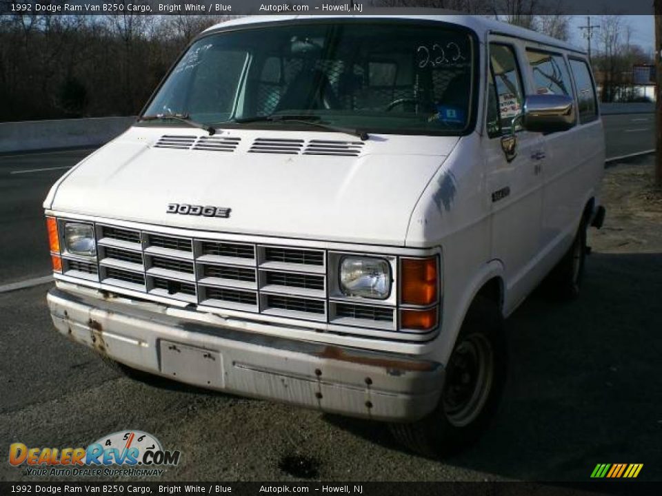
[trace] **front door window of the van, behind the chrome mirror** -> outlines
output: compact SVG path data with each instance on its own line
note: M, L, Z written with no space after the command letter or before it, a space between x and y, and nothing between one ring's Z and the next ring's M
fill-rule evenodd
M488 78L487 127L493 138L511 132L512 119L520 114L524 102L521 73L511 46L490 43ZM520 129L517 125L515 131Z

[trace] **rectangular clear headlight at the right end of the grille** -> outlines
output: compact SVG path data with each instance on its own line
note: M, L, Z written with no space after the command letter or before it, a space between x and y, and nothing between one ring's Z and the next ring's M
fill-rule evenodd
M346 296L385 300L391 292L391 267L381 258L345 257L340 265L340 289Z

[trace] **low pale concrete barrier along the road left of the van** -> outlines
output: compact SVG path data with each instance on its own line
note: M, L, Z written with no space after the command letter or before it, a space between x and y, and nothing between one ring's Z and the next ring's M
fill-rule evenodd
M0 123L0 153L97 147L119 136L134 120L130 116Z

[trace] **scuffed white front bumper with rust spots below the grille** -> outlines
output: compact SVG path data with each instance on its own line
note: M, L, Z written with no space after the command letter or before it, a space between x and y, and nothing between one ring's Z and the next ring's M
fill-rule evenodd
M48 307L58 331L112 360L228 393L406 422L430 413L443 386L437 362L210 324L197 311L57 287Z

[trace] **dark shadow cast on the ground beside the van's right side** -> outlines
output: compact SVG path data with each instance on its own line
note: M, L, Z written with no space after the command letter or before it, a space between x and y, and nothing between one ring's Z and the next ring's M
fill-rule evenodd
M446 463L537 480L643 463L640 479L662 479L662 254L594 253L578 300L536 291L506 329L499 413L477 444ZM399 450L383 425L325 418Z

